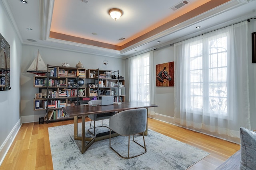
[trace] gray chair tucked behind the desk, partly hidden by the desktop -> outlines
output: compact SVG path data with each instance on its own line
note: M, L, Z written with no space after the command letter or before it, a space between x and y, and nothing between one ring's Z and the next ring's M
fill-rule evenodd
M92 105L99 105L101 104L101 100L90 100L88 102L88 105L89 106L92 106ZM110 112L110 113L98 113L98 114L92 114L92 115L88 115L88 117L91 119L91 122L90 122L90 128L88 129L88 131L95 136L95 121L98 121L98 120L101 120L101 126L97 126L97 127L107 127L107 126L103 126L103 120L104 119L109 119L112 115L114 115L115 112ZM91 125L92 125L92 121L94 121L94 127L91 128ZM109 128L109 127L107 127ZM92 133L90 130L91 129L94 129L94 133Z

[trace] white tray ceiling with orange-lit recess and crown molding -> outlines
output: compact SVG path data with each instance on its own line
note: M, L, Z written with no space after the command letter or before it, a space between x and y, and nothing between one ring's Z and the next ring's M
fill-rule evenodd
M170 8L182 0L27 1L28 4L2 0L23 44L120 58L256 16L256 0L229 0L217 7L214 7L217 0L187 0L189 3L176 11ZM214 3L207 11L200 11L200 6L211 2ZM121 18L113 20L108 14L110 8L121 9ZM199 14L193 16L197 12ZM165 23L171 26L159 29ZM200 29L196 29L198 25ZM26 29L28 27L32 30ZM50 37L50 32L80 37L81 41L56 39ZM118 40L122 37L125 39ZM89 43L84 43L87 41Z

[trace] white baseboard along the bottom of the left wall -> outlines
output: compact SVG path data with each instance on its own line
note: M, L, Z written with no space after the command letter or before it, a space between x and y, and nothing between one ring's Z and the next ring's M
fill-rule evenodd
M12 142L15 139L18 131L20 130L21 125L22 125L22 122L21 122L21 118L20 118L18 120L18 122L16 123L16 125L12 128L12 131L10 132L8 137L5 139L2 146L0 147L0 165L4 161L4 158L5 158L8 150L10 149Z

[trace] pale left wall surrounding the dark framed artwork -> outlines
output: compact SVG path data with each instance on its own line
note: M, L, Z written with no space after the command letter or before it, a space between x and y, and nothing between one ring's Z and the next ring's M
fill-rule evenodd
M20 128L20 61L21 42L0 1L0 33L10 45L11 90L0 91L0 164Z

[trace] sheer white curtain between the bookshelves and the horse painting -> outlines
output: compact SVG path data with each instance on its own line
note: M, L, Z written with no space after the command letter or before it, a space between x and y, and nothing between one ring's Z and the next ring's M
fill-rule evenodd
M130 101L154 104L153 52L149 51L129 58ZM148 109L154 114L154 108Z

